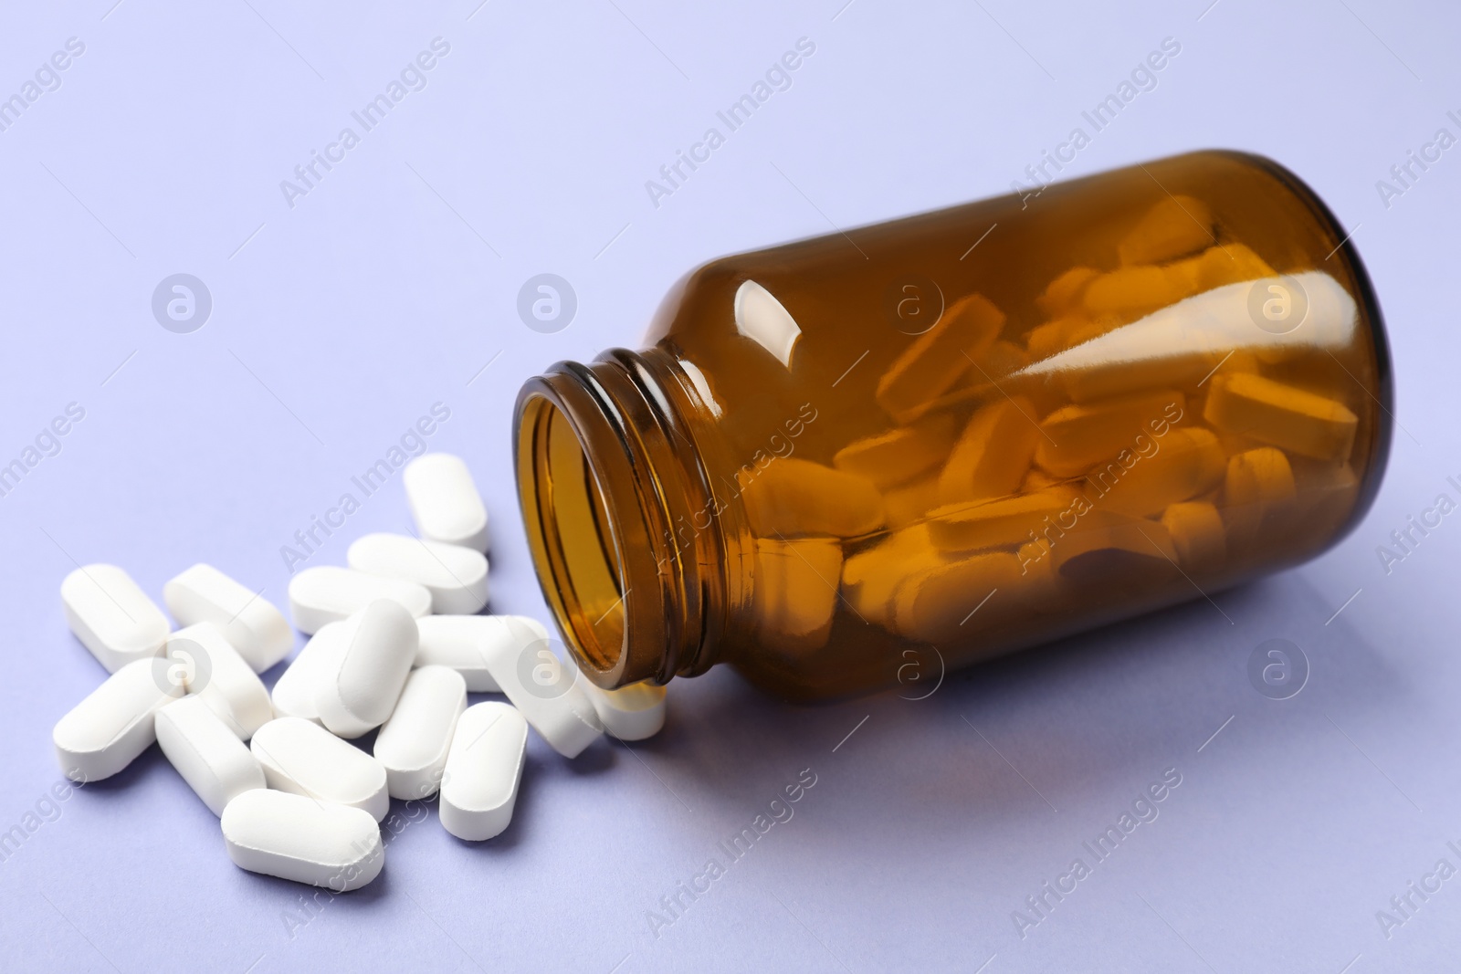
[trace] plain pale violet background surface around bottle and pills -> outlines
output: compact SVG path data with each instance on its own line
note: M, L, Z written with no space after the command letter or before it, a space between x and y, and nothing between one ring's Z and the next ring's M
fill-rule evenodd
M923 701L787 708L723 669L678 680L662 736L576 762L535 740L501 838L459 843L432 812L378 882L292 937L308 891L235 869L153 749L0 862L7 970L1359 973L1461 952L1461 879L1388 939L1375 917L1439 859L1461 866L1461 521L1389 574L1375 553L1438 494L1461 498L1461 330L1441 299L1461 149L1388 207L1375 185L1438 129L1461 134L1461 10L112 3L0 12L0 95L86 45L0 131L0 461L86 410L0 498L0 831L60 778L50 729L104 676L61 618L73 559L120 564L155 599L209 561L282 605L279 548L441 402L430 447L487 495L492 605L546 619L507 448L524 377L634 345L704 258L1008 191L1167 37L1180 55L1068 174L1208 146L1300 174L1357 228L1403 426L1363 524L1216 596L1221 612L1197 600ZM437 37L451 50L427 88L291 209L279 181ZM644 181L804 37L792 88L653 206ZM213 299L191 334L150 312L178 272ZM543 272L579 299L554 334L516 312ZM308 564L406 523L397 475ZM1248 682L1268 638L1309 659L1292 699ZM646 911L804 768L795 816L656 937ZM1021 939L1011 911L1167 768L1182 784L1160 816Z

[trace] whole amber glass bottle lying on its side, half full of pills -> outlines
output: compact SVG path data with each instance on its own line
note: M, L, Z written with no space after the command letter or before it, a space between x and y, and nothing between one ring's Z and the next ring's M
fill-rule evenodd
M1391 375L1344 231L1199 152L707 263L517 400L543 593L600 686L891 686L1338 540Z

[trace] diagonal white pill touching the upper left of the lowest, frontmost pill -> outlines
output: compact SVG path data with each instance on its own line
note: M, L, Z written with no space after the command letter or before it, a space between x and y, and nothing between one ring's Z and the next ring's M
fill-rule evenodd
M248 746L197 697L159 710L156 733L162 753L213 815L222 815L235 796L267 787Z

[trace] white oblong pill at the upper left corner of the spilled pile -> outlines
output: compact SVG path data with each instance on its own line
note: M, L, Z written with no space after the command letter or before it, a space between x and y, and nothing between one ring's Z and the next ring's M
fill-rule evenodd
M108 673L156 656L172 628L162 609L115 565L82 565L66 575L61 606L72 632Z

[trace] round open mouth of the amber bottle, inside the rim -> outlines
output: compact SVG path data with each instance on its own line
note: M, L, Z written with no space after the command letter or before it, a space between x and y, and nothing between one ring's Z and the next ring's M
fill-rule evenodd
M543 594L580 660L609 673L624 651L622 532L579 432L557 404L543 397L524 403L517 448L519 495Z

